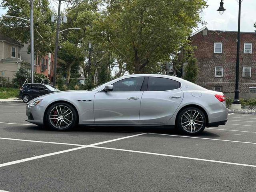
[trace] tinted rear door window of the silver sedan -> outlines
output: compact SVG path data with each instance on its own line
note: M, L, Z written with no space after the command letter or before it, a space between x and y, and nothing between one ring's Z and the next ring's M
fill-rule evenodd
M172 79L149 77L148 91L167 91L180 88L180 82Z

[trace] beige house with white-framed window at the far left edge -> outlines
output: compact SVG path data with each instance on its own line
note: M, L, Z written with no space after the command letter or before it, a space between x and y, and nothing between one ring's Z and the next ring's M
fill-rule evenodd
M18 41L0 34L0 76L10 82L22 64L30 71L30 65L22 60L22 47Z

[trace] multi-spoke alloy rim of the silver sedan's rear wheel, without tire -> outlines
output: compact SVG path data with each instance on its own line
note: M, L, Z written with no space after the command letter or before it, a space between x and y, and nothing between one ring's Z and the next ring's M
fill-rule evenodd
M198 132L204 125L204 118L197 110L188 110L181 117L182 128L190 133Z

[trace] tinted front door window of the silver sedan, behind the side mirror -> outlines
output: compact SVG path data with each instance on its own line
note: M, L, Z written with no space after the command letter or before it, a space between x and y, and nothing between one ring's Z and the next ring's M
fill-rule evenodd
M140 91L144 77L132 77L122 79L115 82L113 85L113 91L127 92L127 91Z

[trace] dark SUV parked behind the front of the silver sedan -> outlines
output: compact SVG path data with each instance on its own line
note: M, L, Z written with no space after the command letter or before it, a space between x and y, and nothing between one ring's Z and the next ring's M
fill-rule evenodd
M20 98L27 103L36 97L57 91L60 90L50 84L29 83L20 88Z

